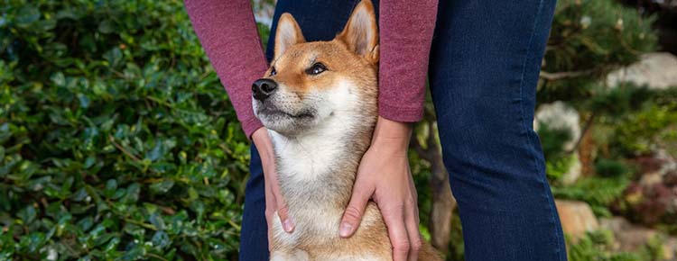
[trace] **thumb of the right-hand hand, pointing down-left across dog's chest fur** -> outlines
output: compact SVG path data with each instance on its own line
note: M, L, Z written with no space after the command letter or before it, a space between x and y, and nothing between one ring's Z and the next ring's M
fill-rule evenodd
M346 211L343 212L341 219L341 226L338 229L338 235L341 238L350 238L355 233L355 230L362 222L362 215L365 213L366 203L369 202L373 189L368 189L364 186L355 186L352 198L348 203Z

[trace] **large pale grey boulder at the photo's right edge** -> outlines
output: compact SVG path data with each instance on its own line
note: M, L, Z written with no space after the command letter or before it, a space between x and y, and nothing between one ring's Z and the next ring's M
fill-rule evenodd
M635 64L607 75L608 86L623 83L646 85L657 90L677 86L677 57L669 52L647 53Z

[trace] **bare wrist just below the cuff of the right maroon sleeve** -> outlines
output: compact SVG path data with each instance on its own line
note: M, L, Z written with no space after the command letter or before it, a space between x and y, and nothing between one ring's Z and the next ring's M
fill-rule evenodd
M391 121L378 116L371 146L376 148L394 148L406 151L412 137L412 124Z

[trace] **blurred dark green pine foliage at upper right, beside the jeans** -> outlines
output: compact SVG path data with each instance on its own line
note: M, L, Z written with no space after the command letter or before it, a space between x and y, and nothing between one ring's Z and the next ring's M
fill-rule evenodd
M564 101L577 108L588 103L605 90L597 85L608 72L656 49L655 19L617 0L558 1L537 102ZM625 103L611 105L613 110Z

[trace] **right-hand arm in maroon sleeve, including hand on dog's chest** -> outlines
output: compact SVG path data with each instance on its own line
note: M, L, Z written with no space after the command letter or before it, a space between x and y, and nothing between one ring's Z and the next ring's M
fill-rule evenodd
M382 1L379 11L379 117L372 144L357 169L340 236L355 232L371 198L388 227L394 261L415 261L422 242L407 157L412 134L408 122L422 119L437 1Z

